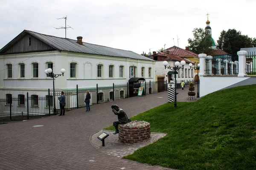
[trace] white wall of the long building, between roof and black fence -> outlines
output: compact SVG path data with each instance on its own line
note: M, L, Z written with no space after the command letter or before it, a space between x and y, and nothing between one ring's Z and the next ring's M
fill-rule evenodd
M52 91L52 78L47 77L44 70L47 69L47 62L53 63L54 74L61 74L61 68L66 72L64 77L60 76L55 79L55 91L63 89L89 88L99 86L111 86L115 84L125 84L129 78L129 67L136 66L136 77L141 76L141 68L144 67L144 78L155 81L155 62L147 60L128 59L122 57L96 56L90 54L46 51L24 54L6 54L0 55L0 98L5 98L6 94L12 94L17 97L18 94L36 94L45 96L48 88ZM19 78L19 63L25 64L25 78ZM38 78L32 78L32 63L38 62ZM77 77L70 78L70 63L77 63ZM7 78L6 64L12 63L12 78ZM103 65L102 78L97 77L97 65ZM86 69L85 65L91 65L91 69ZM113 78L108 77L108 66L114 65ZM119 66L124 66L123 77L119 77ZM148 68L151 68L151 77L148 77Z

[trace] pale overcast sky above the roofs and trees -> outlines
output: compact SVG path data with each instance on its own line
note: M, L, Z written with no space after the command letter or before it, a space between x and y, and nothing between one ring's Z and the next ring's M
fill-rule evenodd
M0 0L0 48L24 29L56 37L148 54L173 45L185 48L194 28L212 38L235 28L256 37L256 0ZM54 28L55 27L55 28ZM179 40L177 40L177 37Z

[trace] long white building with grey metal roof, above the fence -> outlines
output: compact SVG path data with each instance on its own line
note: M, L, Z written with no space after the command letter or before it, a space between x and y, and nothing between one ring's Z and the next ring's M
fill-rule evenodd
M155 81L155 61L132 51L24 30L0 50L0 98L46 96L53 88L45 70L64 76L55 91L125 84L132 77Z

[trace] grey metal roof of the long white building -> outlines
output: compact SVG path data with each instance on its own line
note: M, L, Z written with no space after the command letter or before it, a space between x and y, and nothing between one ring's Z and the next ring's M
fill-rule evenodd
M39 40L45 42L46 44L52 46L58 51L70 51L77 53L85 53L85 54L96 54L102 56L112 56L112 57L124 57L131 59L141 59L141 60L149 60L154 61L153 59L149 59L148 57L144 57L140 54L134 53L133 51L126 51L116 48L105 47L102 45L95 45L83 42L83 45L77 43L77 40L71 40L68 38L54 37L51 35L40 34L34 31L24 30L17 37L20 38L24 35L24 33L31 34ZM16 38L17 38L16 37ZM15 38L15 39L16 39ZM17 42L17 40L13 39L9 42L5 47L3 47L0 51L6 50L4 48L9 48L13 43Z

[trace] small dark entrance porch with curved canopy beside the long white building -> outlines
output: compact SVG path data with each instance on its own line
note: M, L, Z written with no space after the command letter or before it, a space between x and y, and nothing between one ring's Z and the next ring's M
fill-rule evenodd
M129 79L129 97L134 97L138 95L139 88L141 87L141 82L146 80L142 77L133 77Z

